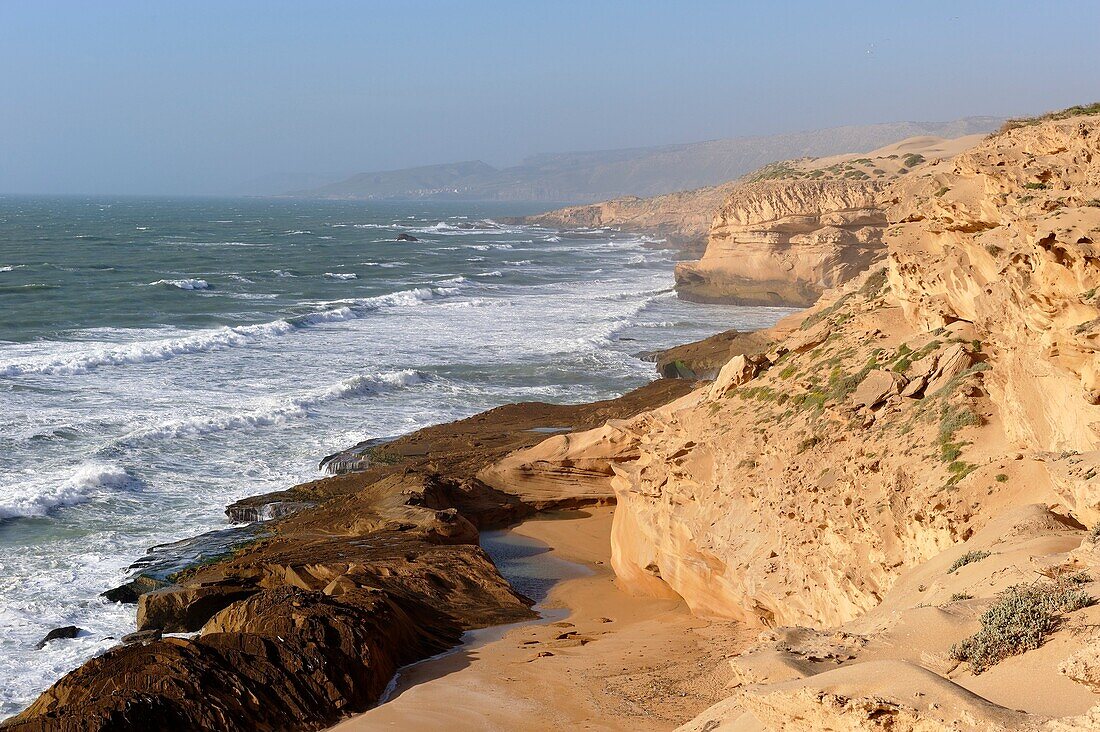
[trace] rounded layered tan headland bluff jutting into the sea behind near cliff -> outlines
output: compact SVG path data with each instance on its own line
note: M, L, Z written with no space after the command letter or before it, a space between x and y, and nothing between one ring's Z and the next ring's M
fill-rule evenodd
M859 155L768 165L728 190L706 251L676 267L685 299L813 305L882 255L884 192L977 138L913 138Z

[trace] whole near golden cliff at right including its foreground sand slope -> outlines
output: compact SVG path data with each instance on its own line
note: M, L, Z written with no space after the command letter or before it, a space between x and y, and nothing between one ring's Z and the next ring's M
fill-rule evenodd
M768 629L684 730L1098 729L1100 117L889 183L749 184L718 220L801 223L809 192L881 217L869 270L708 386L498 473L598 467L626 588Z

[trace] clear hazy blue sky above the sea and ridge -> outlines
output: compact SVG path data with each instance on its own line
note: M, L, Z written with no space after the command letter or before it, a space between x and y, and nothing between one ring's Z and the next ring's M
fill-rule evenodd
M1100 100L1100 2L0 0L0 193L201 195Z

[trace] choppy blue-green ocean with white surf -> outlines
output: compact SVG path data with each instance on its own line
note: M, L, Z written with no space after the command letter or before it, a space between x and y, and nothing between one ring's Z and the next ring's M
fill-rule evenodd
M133 630L148 547L318 461L654 378L787 310L695 305L647 237L519 205L0 197L0 718ZM418 241L398 241L399 234ZM79 637L35 649L51 629Z

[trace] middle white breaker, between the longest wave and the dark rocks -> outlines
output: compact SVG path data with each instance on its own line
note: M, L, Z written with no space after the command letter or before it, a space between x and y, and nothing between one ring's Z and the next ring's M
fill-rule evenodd
M406 389L426 383L429 375L405 369L385 371L373 374L360 374L344 379L338 384L324 389L306 392L284 401L272 401L252 409L234 409L231 414L189 417L173 419L152 427L146 427L123 436L119 443L133 445L151 440L179 439L183 437L201 437L215 433L235 429L250 429L282 425L293 419L309 416L310 411L329 402L336 402L353 396L376 394L394 389Z

